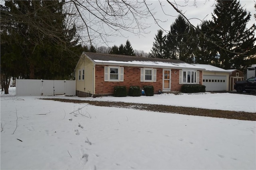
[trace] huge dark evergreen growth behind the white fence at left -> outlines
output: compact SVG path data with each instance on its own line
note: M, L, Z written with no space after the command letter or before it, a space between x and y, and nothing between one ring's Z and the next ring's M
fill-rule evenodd
M52 79L73 72L82 47L76 46L76 27L66 22L63 6L64 1L32 0L1 5L1 73Z

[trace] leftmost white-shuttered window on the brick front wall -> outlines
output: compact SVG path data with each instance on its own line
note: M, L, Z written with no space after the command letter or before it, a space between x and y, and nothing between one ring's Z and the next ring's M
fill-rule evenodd
M104 68L105 82L123 82L124 81L124 67L105 66Z

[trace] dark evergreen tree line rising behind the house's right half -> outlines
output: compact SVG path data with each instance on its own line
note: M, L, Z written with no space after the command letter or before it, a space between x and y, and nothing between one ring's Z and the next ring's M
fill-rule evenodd
M158 30L151 56L244 70L256 63L256 26L246 27L250 17L235 0L217 1L212 20L197 27L179 15L166 35Z

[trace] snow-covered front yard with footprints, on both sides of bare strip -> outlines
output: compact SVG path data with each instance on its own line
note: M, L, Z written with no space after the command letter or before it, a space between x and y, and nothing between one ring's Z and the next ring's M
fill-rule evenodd
M256 121L12 94L1 94L1 169L256 169ZM256 112L243 94L65 98Z

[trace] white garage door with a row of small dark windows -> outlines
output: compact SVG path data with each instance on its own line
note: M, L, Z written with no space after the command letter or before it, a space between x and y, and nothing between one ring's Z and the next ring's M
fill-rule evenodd
M204 75L203 85L206 91L226 91L228 81L226 76L209 76Z

